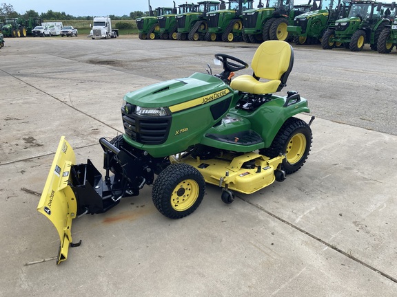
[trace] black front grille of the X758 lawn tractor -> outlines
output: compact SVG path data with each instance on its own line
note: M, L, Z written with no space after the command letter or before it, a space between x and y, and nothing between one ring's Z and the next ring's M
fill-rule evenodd
M154 117L148 115L123 114L125 134L141 144L162 144L167 140L171 126L171 115Z

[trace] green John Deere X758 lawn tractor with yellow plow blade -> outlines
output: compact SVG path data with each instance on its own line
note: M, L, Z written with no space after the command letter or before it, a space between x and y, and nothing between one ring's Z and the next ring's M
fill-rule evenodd
M205 184L221 188L232 203L234 192L250 194L283 181L306 162L312 146L310 124L296 118L309 112L286 86L294 51L285 41L262 43L252 60L253 75L233 78L247 63L216 54L223 72L195 73L132 91L124 96L125 132L101 138L103 178L90 159L77 164L61 137L37 209L57 228L65 261L72 243L72 220L106 212L124 197L152 185L154 206L165 217L192 214ZM260 81L263 78L265 81Z

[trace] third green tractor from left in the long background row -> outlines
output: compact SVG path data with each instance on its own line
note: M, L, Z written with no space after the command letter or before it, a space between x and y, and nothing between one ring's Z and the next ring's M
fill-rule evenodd
M219 10L219 1L201 1L196 11L176 16L178 34L176 39L184 41L204 40L208 31L207 13Z

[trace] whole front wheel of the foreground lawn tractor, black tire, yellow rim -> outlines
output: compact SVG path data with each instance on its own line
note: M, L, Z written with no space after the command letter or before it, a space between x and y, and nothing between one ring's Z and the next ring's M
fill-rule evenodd
M188 164L171 164L153 184L154 206L165 217L181 219L203 201L205 181L199 170Z

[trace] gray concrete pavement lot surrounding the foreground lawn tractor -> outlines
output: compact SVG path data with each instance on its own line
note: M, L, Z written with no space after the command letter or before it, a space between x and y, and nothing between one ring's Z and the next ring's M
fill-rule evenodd
M305 166L283 183L230 205L207 186L196 212L176 221L156 210L147 186L105 214L75 219L73 239L83 243L55 265L59 238L36 208L61 135L78 162L101 168L98 140L122 132L125 93L205 72L217 52L249 62L256 47L6 39L0 296L396 296L397 54L367 47L294 45L282 93L299 91L316 120Z

